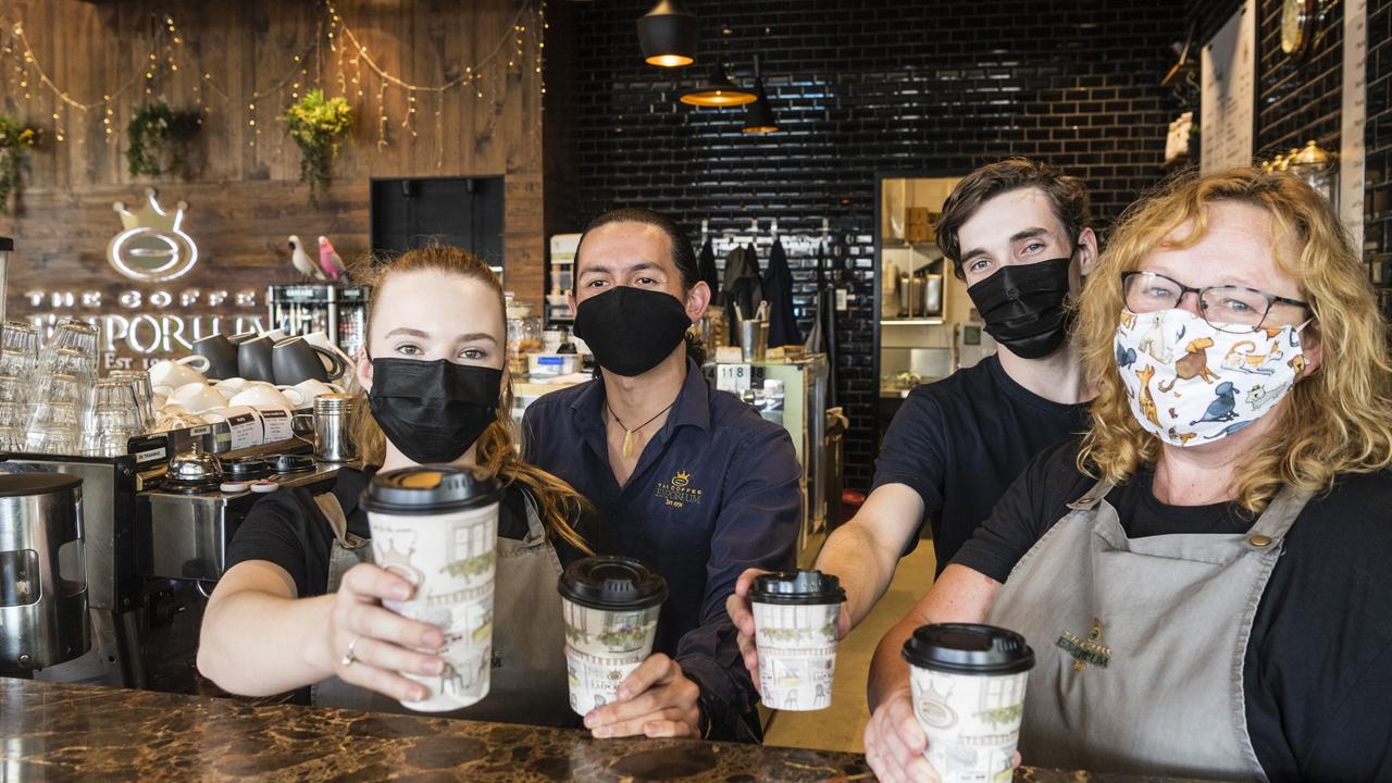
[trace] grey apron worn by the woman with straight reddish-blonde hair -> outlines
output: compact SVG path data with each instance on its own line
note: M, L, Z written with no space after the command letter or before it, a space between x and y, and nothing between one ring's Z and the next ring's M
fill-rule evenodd
M334 529L329 559L327 592L338 589L348 568L372 563L367 541L348 532L348 520L334 493L316 495L315 503ZM561 561L546 541L546 529L532 496L528 496L528 535L523 541L498 538L497 591L493 606L493 672L489 695L454 712L420 713L397 699L344 683L337 677L310 688L315 706L344 706L405 715L441 715L472 720L575 726L565 676L565 631L561 596L555 589Z

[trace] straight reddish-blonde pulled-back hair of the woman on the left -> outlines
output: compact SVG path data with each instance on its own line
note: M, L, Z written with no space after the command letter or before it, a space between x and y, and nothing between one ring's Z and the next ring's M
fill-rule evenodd
M376 315L376 302L381 300L383 290L397 274L411 272L440 272L466 280L477 280L489 287L498 298L498 312L504 311L503 284L479 256L451 247L427 247L401 254L387 265L372 268L370 261L362 265L354 279L372 286L373 294L367 302L366 334L363 334L363 351L367 350L372 337L372 320ZM505 325L500 325L505 326ZM505 333L505 329L500 330ZM541 468L523 463L516 449L516 425L512 422L512 378L503 369L507 383L503 397L498 400L498 412L493 424L479 436L475 456L479 467L497 476L504 486L518 482L532 490L541 511L541 524L547 536L567 541L580 552L593 555L579 532L571 527L569 520L589 510L589 503L571 485L543 471ZM387 454L387 436L381 432L377 421L372 418L365 394L359 392L358 404L354 405L349 421L354 442L366 464L380 465Z

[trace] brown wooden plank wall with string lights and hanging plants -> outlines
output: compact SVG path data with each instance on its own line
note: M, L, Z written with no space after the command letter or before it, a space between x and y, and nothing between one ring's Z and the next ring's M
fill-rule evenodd
M530 0L533 4L537 0ZM75 100L100 102L129 79L106 111L78 111L29 85L29 99L11 74L0 72L0 110L40 125L43 144L29 153L22 198L14 216L0 216L0 235L15 240L8 272L10 315L32 309L28 290L106 291L159 288L135 284L106 263L106 245L120 230L111 202L135 205L155 185L166 206L189 203L185 230L200 249L199 265L163 288L262 290L296 279L285 238L308 242L327 234L349 259L369 248L369 180L373 177L505 177L505 277L509 290L540 301L543 290L543 150L537 52L518 57L511 28L522 0L340 0L335 6L376 61L406 82L438 85L476 64L507 38L479 81L483 98L452 89L436 99L418 93L413 128L402 127L411 107L398 88L379 91L380 79L351 54L315 50L329 26L326 6L315 0L207 0L160 3L121 0L3 0L0 22L17 21L38 61ZM175 109L205 106L206 123L192 145L187 178L132 178L125 167L125 125L148 100L146 65L164 17L174 20L181 45L171 53L178 71L157 71L150 92ZM522 24L530 11L522 14ZM164 36L166 42L170 36ZM295 72L296 53L309 53ZM166 53L156 52L159 59ZM512 67L507 67L512 60ZM13 64L14 60L6 60ZM203 78L210 74L213 79ZM306 203L298 184L299 150L277 116L316 79L329 95L340 74L356 110L351 141L334 162L334 181L319 208ZM354 78L358 85L352 84ZM287 86L260 100L283 78ZM214 89L216 88L216 89ZM362 95L358 95L358 91ZM388 117L387 145L379 148L379 95ZM252 110L251 106L256 104ZM438 111L438 116L437 116ZM53 114L58 114L58 120ZM255 121L255 125L252 124ZM56 139L65 131L63 142ZM412 135L411 131L416 135ZM260 131L258 134L258 131ZM106 301L109 302L110 298ZM77 305L75 315L88 315Z

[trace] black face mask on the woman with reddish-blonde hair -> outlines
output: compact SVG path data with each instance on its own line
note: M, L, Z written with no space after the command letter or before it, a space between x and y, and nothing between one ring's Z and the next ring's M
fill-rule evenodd
M497 421L503 371L419 359L372 359L367 404L413 463L452 463Z

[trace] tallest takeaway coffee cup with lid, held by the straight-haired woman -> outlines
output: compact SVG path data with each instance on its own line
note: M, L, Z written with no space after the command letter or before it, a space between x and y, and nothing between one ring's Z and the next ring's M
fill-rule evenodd
M416 585L383 606L444 633L444 672L402 672L430 690L404 706L443 712L489 695L500 496L496 479L457 465L380 472L363 490L373 561Z

